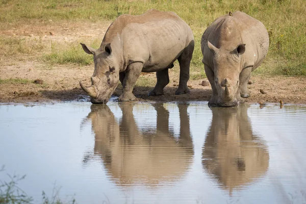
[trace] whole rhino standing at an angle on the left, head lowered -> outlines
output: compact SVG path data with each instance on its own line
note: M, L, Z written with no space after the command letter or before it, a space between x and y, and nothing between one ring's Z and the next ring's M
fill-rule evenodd
M82 44L82 43L81 43ZM157 84L148 95L162 95L169 83L168 69L180 63L180 84L175 94L189 93L189 65L194 39L189 25L172 12L154 9L138 16L120 15L108 28L98 49L82 44L92 54L92 85L80 85L93 104L105 104L120 80L119 101L136 100L132 93L141 72L156 72Z

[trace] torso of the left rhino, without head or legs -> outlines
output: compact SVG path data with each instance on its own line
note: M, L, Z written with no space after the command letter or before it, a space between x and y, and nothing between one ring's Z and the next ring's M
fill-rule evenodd
M172 64L193 41L193 34L175 13L151 9L138 16L119 16L102 44L114 41L120 41L125 61L143 62L143 71L151 72Z

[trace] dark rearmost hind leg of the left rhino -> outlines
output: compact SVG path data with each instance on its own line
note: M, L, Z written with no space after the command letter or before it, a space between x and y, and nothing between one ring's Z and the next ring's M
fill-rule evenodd
M177 60L180 63L180 83L179 83L179 88L177 88L175 91L176 95L181 95L190 92L187 86L187 82L189 80L189 68L190 68L190 61L192 58L193 48L194 48L194 42L192 41L184 49L180 57L177 58Z

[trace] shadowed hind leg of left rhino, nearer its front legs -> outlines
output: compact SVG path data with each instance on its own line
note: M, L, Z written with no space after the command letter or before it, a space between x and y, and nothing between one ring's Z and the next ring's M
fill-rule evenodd
M156 72L157 83L153 90L148 93L148 96L152 95L164 95L164 87L169 84L168 68Z

